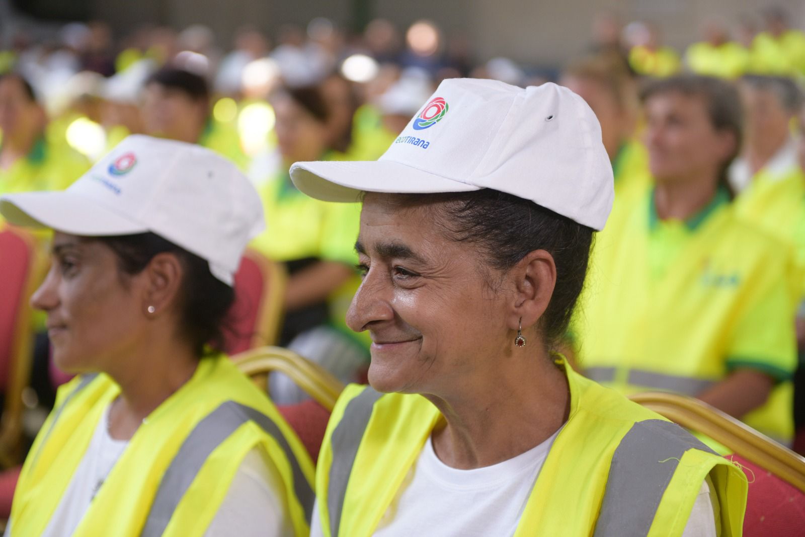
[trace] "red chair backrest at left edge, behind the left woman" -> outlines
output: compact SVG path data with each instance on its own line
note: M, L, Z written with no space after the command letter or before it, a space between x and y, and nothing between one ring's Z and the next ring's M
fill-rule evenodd
M0 390L8 383L14 336L20 308L25 307L27 297L23 294L33 260L30 242L10 229L0 230Z

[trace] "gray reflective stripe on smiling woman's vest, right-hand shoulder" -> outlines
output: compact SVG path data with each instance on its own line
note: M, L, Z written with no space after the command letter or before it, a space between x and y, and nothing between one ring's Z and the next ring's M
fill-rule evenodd
M675 423L634 423L612 457L593 535L647 535L679 459L689 449L714 453Z

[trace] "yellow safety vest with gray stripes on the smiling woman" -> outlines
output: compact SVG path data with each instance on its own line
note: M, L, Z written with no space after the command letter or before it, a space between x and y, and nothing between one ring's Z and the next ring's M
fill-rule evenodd
M747 485L740 469L674 423L561 366L570 415L514 537L679 536L708 474L721 535L741 535ZM374 533L439 419L421 395L347 387L316 469L316 516L324 535Z

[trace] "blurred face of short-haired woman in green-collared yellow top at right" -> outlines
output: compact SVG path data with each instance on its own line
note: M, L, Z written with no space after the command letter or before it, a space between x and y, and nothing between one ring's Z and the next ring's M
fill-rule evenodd
M658 183L716 180L735 147L733 134L718 131L708 116L704 97L677 91L646 99L644 142L649 167Z

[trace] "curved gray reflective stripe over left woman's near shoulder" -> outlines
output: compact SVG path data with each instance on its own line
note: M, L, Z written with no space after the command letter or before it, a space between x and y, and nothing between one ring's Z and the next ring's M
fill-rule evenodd
M315 499L313 490L308 484L308 480L305 479L302 469L299 467L299 461L291 451L291 446L288 445L276 423L254 408L227 401L197 423L196 428L193 428L190 435L184 440L179 452L171 461L171 465L167 467L162 481L159 482L154 503L151 504L151 512L146 518L140 535L157 537L164 533L176 506L179 505L192 481L196 479L204 461L215 448L247 421L257 423L263 431L277 441L279 447L285 452L285 456L291 464L294 492L303 506L305 516L310 520Z

